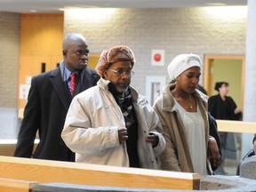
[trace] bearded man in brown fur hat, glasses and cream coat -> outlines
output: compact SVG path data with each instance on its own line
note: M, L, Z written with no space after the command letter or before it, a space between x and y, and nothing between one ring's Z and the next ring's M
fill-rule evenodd
M130 86L134 64L125 45L101 52L97 86L72 100L61 137L76 162L160 168L163 130L148 101Z

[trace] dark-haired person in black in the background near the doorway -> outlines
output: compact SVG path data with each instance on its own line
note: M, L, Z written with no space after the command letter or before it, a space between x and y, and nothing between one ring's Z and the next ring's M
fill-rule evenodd
M228 96L229 84L227 82L217 82L214 90L219 92L213 95L208 100L208 110L215 119L222 120L241 120L242 111L237 108L236 102ZM228 174L225 172L223 165L225 158L230 155L236 155L236 141L235 134L231 132L219 132L220 143L222 147L222 164L217 170L217 174ZM229 140L228 140L229 138ZM229 143L229 144L228 144ZM229 146L229 147L228 147ZM236 158L236 157L233 157Z

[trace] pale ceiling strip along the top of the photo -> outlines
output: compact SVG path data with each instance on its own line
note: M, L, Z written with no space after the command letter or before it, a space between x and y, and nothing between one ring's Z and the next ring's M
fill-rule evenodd
M0 0L0 12L60 12L60 8L167 8L246 5L246 0Z

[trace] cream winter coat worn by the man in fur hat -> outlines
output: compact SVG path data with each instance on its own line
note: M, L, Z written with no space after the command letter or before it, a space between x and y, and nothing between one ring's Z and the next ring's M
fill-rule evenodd
M119 144L117 129L125 127L124 116L111 92L109 81L76 95L68 109L62 139L76 152L76 162L129 167L126 144ZM132 89L132 87L131 87ZM159 169L157 156L165 148L163 129L153 108L132 89L132 103L138 119L140 167ZM156 148L146 142L148 132L159 137Z

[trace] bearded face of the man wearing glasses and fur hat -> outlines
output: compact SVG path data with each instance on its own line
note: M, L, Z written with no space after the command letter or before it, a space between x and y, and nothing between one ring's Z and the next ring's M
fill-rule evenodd
M114 85L116 92L124 93L131 83L132 64L130 61L117 61L103 73L103 78Z

